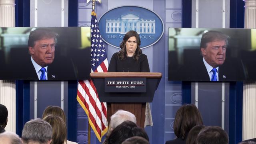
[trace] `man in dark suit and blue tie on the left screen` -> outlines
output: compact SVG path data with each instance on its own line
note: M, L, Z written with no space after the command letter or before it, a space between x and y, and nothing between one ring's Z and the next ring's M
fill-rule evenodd
M30 32L28 50L30 58L24 58L21 66L15 67L17 79L24 80L69 80L76 79L74 67L67 58L55 58L58 34L38 28ZM16 64L17 65L17 64Z

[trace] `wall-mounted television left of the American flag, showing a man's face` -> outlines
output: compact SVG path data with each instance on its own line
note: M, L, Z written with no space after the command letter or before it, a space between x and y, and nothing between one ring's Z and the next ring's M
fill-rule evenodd
M14 27L0 33L0 80L87 80L90 27Z

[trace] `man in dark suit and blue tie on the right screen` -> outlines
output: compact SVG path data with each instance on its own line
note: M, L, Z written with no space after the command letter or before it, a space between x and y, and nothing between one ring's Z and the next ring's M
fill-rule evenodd
M228 58L226 49L230 37L219 31L208 31L202 35L200 51L202 59L190 62L182 68L182 80L237 81L244 80L240 60Z

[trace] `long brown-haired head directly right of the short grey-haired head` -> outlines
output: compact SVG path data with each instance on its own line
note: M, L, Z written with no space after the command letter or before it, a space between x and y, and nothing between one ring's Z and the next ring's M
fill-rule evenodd
M51 144L64 144L64 142L67 142L67 127L62 118L59 116L47 115L43 120L52 126Z

